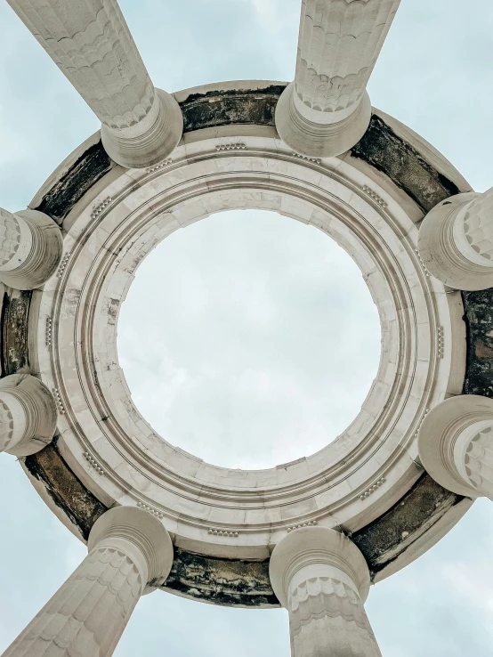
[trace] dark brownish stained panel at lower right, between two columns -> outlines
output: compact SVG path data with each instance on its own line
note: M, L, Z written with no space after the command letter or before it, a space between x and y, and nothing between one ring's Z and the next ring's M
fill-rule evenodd
M360 547L370 572L375 574L463 499L424 473L397 504L374 523L355 531L351 539Z

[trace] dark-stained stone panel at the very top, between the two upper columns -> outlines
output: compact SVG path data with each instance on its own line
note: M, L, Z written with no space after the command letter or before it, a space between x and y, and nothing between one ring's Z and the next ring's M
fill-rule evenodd
M183 131L238 123L275 126L274 113L284 89L284 85L271 85L264 89L190 93L180 103Z

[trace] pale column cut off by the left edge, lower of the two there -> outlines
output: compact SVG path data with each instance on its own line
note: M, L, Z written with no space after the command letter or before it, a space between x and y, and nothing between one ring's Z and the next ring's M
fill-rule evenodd
M30 374L0 380L0 451L25 457L52 442L57 421L53 394Z

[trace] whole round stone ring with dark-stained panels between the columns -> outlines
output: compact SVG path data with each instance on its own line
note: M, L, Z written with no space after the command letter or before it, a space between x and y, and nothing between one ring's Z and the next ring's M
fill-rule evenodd
M156 516L174 543L162 588L217 604L279 605L270 555L303 526L351 536L374 582L422 554L473 500L424 472L419 427L450 396L490 392L472 350L491 330L489 290L446 288L417 247L424 215L469 185L378 110L343 156L295 154L274 123L285 87L175 93L182 140L147 168L118 166L93 135L29 206L61 226L56 275L32 291L4 288L3 374L36 374L58 407L53 443L22 459L36 490L85 540L110 507ZM278 212L335 239L359 265L382 325L376 380L352 425L316 454L258 471L207 464L156 434L117 359L118 310L145 255L235 208Z

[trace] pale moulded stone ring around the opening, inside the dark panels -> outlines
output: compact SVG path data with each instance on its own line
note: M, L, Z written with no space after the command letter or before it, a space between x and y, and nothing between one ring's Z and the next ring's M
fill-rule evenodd
M64 223L61 277L41 293L34 355L66 409L58 447L107 506L162 515L177 547L267 558L290 528L355 531L416 482L417 427L461 391L465 327L460 295L445 294L416 254L416 207L410 216L383 174L369 178L349 156L299 158L273 128L236 129L186 135L173 160L96 183L79 201ZM216 467L156 434L117 359L118 309L145 255L173 231L236 207L270 209L335 239L359 264L382 323L380 367L360 415L324 450L268 470ZM55 314L48 349L45 324Z

